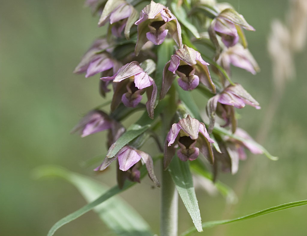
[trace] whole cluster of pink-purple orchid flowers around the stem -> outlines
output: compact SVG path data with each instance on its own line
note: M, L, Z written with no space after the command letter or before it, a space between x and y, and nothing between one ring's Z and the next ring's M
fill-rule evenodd
M114 114L120 113L123 107L146 107L150 118L159 115L154 114L157 103L167 97L178 78L178 85L183 90L202 88L208 92L208 131L203 122L188 114L188 109L184 117L178 115L178 111L175 112L166 138L162 137L165 139L164 168L168 168L176 154L182 161L193 161L201 153L208 163L215 166L214 169L221 167L223 171L235 173L239 159L246 158L244 148L254 154L262 153L257 146L248 142L252 138L236 127L235 118L235 108L241 109L247 104L260 109L259 104L240 84L229 82L225 77L225 73L231 75L231 64L252 74L258 70L255 59L247 49L242 28L252 31L255 29L231 6L212 1L211 5L208 5L199 0L193 1L192 6L185 6L187 3L177 6L189 11L187 15L203 26L201 30L204 33L200 34L203 35L202 38L191 38L187 27L181 28L181 19L178 14L177 18L172 13L172 9L151 1L139 14L136 6L142 3L143 1L87 0L86 4L91 7L92 12L101 14L99 26L109 22L109 30L107 36L98 38L93 43L74 72L86 73L85 77L100 73L99 88L102 96L105 97L110 91L109 87L113 88L114 93L110 114L102 110L92 110L73 131L80 130L84 137L108 130L107 145L111 147L125 132L125 128L120 124L122 117ZM208 14L204 16L204 13ZM215 55L210 69L220 81L211 77L209 63L204 61L202 54L192 44L200 43L203 39L214 48ZM160 60L157 48L165 41L173 42L173 55L163 65L164 68L156 68ZM161 84L157 84L157 81L161 81L157 70L163 70ZM221 70L225 73L221 73ZM141 102L145 93L146 106ZM180 101L174 106L177 104L180 104ZM224 120L223 127L230 127L232 133L239 136L241 141L215 134L216 116ZM150 178L159 186L151 156L138 150L144 143L143 139L142 142L134 140L128 143L114 157L106 157L95 170L105 170L117 159L118 182L122 186L125 179L140 182L139 167L143 163ZM214 143L217 145L213 146ZM216 148L217 146L219 148Z

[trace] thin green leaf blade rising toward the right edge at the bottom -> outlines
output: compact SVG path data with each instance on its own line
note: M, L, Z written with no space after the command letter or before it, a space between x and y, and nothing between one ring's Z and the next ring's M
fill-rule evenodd
M261 215L265 215L265 214L269 214L275 211L280 211L280 210L286 210L288 208L292 208L292 207L296 207L296 206L304 206L307 205L307 200L302 200L302 201L297 201L297 202L289 202L289 203L285 203L279 206L273 206L264 210L260 210L257 211L255 213L252 214L248 214L245 216L241 216L238 218L234 218L234 219L230 219L230 220L217 220L217 221L208 221L208 222L204 222L202 224L203 229L204 228L209 228L209 227L213 227L213 226L217 226L217 225L225 225L225 224L229 224L232 222L239 222L239 221L243 221L243 220L247 220L247 219L251 219L251 218L255 218L257 216L261 216ZM185 231L183 234L181 234L180 236L188 236L191 235L192 233L194 233L196 230L194 228L190 228L189 230Z

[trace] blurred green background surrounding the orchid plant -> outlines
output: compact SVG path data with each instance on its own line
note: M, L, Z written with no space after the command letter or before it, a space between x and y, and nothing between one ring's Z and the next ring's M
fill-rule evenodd
M286 0L229 1L256 28L246 32L249 48L261 72L256 76L234 68L233 80L240 82L261 104L261 110L239 110L239 126L253 137L262 127L272 95L271 62L267 36L274 18L284 19ZM106 153L105 133L86 138L69 131L82 114L103 103L97 89L98 76L72 74L91 42L102 32L97 17L91 17L83 0L1 1L1 235L46 235L60 218L85 204L77 190L60 179L34 180L32 170L56 164L92 176L109 186L115 183L115 167L95 174L81 162ZM264 155L240 162L235 176L220 179L236 188L246 178L244 168L254 159L251 178L231 217L266 207L307 199L307 53L296 55L296 78L286 86L264 146L279 157L274 162ZM196 95L197 96L197 95ZM203 106L202 104L199 104ZM132 120L126 121L126 124ZM157 166L157 169L158 166ZM158 172L158 170L157 170ZM223 197L197 190L203 221L217 220L226 204ZM121 194L159 232L159 189L146 179ZM180 202L182 232L192 226ZM273 213L246 222L205 230L198 235L306 235L306 207ZM56 235L113 235L90 212L62 227Z

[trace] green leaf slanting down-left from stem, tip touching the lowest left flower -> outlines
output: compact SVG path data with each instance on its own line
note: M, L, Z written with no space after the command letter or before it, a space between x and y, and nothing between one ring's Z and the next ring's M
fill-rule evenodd
M119 137L119 139L116 140L115 143L112 144L110 147L107 157L112 158L116 155L116 153L119 152L119 150L122 149L123 146L125 146L128 142L132 141L134 138L138 137L139 135L143 134L146 130L148 130L150 127L153 126L155 120L159 116L159 114L162 112L166 101L163 100L159 103L159 105L155 109L154 118L151 119L147 111L145 111L142 115L142 117L129 126L127 131L122 134L122 136Z

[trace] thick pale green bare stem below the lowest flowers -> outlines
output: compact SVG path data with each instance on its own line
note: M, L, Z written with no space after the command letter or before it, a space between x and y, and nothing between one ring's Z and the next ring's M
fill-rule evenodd
M178 193L168 170L162 169L161 236L178 235Z

